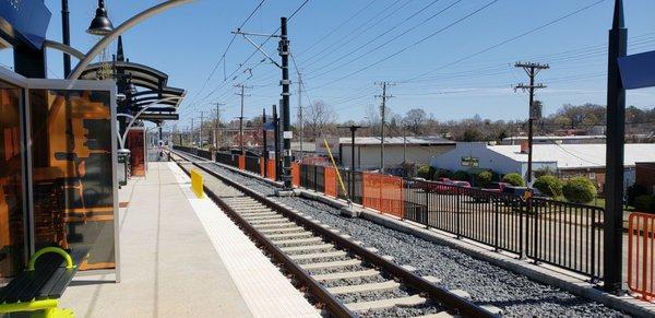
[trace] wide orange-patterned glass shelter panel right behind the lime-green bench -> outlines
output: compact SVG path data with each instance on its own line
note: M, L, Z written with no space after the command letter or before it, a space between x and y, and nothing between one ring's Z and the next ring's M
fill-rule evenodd
M31 90L35 245L90 249L115 268L111 104L107 91Z

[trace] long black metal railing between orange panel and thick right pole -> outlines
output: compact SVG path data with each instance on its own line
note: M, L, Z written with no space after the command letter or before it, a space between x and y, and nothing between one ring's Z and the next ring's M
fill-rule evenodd
M407 181L404 191L407 220L602 278L600 208L431 181Z

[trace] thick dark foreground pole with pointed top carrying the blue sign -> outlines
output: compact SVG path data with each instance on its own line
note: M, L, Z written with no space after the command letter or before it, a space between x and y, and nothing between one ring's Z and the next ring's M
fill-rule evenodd
M605 291L622 294L623 156L626 145L626 89L618 60L628 52L623 1L616 0L607 52L607 149L603 279Z

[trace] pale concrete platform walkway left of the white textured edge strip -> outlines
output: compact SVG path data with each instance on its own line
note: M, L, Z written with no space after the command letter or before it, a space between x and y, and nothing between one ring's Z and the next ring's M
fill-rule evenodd
M82 273L61 307L78 317L254 316L178 179L169 163L151 163L120 189L121 282Z

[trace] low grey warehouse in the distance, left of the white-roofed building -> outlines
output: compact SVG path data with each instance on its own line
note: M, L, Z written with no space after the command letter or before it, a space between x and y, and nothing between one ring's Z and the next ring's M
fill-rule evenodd
M332 154L346 167L352 166L352 139L329 139ZM433 157L455 149L455 142L441 137L389 137L384 139L384 166L403 163L430 164ZM325 153L323 140L317 141L317 152ZM355 138L355 168L378 169L381 164L379 137Z

